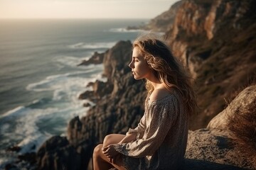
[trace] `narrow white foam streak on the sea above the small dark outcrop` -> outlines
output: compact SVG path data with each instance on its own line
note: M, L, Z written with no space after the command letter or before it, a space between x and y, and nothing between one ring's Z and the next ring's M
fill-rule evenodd
M78 42L73 45L68 45L72 49L101 49L113 47L117 42Z

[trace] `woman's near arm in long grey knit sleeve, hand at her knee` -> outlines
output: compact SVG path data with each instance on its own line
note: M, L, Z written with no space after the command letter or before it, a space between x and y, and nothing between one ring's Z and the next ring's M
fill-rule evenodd
M152 155L160 147L178 117L178 101L169 98L167 103L158 103L151 109L151 121L144 138L133 142L113 145L117 152L129 157Z

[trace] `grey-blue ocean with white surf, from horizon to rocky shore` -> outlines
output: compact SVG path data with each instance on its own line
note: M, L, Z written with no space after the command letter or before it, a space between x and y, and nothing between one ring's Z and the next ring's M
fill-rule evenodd
M142 30L126 30L147 19L0 20L0 169L18 154L35 152L68 122L86 115L78 96L102 77L103 65L77 66L119 40L133 41ZM6 151L9 147L21 151Z

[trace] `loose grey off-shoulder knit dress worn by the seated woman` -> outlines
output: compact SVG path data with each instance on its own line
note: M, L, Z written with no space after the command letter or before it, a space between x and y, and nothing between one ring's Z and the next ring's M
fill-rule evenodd
M145 102L145 113L135 129L137 140L116 144L124 155L124 166L138 169L178 169L188 137L188 114L176 91L157 101Z

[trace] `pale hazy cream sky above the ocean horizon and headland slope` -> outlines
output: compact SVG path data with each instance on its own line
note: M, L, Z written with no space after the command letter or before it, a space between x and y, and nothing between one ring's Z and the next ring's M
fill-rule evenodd
M0 18L154 18L178 0L0 0Z

